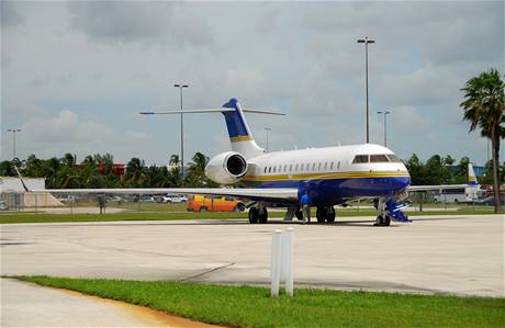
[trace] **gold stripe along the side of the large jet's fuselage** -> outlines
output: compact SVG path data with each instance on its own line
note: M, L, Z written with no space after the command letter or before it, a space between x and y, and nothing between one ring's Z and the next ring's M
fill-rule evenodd
M411 178L407 171L348 171L277 176L246 176L245 181L332 180L357 178Z

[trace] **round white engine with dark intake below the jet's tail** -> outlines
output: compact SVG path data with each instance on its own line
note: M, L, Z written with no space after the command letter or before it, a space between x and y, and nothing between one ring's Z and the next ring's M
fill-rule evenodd
M226 151L212 158L205 167L205 176L222 184L239 181L247 172L247 161L242 154Z

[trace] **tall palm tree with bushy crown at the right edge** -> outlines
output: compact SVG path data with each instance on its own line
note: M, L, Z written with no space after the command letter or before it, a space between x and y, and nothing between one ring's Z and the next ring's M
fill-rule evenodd
M505 137L505 94L504 82L496 69L483 71L471 78L461 91L464 101L460 106L464 111L463 120L470 121L470 132L481 129L483 137L491 139L493 158L494 212L502 210L500 202L498 154L501 138Z

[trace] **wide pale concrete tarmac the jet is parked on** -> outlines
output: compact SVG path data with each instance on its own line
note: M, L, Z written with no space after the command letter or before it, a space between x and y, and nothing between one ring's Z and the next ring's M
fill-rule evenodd
M1 274L268 284L271 234L293 227L295 287L505 296L503 215L337 220L1 225Z

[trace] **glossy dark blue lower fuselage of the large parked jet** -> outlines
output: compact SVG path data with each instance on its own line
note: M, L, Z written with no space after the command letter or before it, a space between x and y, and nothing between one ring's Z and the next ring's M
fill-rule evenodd
M260 188L296 188L300 196L307 191L313 205L329 206L348 199L378 196L393 197L405 190L411 179L401 178L347 178L330 180L290 180L262 182Z

